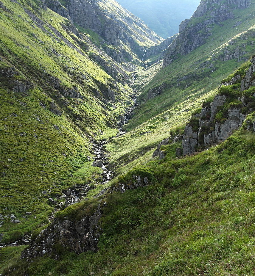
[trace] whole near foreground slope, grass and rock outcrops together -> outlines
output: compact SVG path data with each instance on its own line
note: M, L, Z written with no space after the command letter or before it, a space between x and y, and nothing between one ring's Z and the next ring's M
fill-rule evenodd
M183 129L176 129L173 140L161 146L162 160L120 176L101 200L59 212L4 273L254 275L255 87L250 73L254 63L235 72L240 79L233 77L211 104L204 102L202 113L194 112L201 124L205 105L212 110L217 102L217 115L224 108L228 114L242 108L245 120L235 134L177 159ZM218 102L221 96L225 103ZM198 125L192 123L193 117L186 128L195 131Z

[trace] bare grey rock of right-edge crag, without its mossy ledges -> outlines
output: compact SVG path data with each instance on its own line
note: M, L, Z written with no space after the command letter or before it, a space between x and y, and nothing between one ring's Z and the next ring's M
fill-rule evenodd
M245 77L241 80L241 91L247 90L255 86L253 73L255 72L255 58L251 59L252 65L248 68ZM235 84L240 80L241 76L237 75L230 82L224 85ZM255 93L254 95L255 96ZM243 107L249 107L249 111L253 112L253 108L249 106L251 100L242 96L238 99ZM246 115L242 114L241 108L232 107L228 109L227 118L225 121L216 121L215 116L218 108L226 102L226 96L216 95L209 108L203 108L200 114L194 117L199 118L198 132L193 132L192 126L187 125L183 136L183 153L189 155L195 153L197 147L209 147L225 141L233 132L239 129L245 121ZM248 122L247 130L255 131L255 122Z

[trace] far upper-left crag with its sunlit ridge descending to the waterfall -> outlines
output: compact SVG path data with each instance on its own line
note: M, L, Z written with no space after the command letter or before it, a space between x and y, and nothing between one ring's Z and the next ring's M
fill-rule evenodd
M118 46L123 56L127 53L124 49L126 47L122 45L128 46L130 52L133 51L140 57L144 46L151 46L163 40L139 18L123 9L115 1L70 0L64 5L57 0L46 2L47 6L58 14L69 18L73 23L85 29L94 31L106 43ZM111 52L108 54L114 55Z

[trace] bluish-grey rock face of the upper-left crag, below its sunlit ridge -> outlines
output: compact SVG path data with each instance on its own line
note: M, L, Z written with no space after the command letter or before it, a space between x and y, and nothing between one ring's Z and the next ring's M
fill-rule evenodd
M117 7L114 3L110 3L110 5L113 5L115 9ZM129 44L131 48L137 48L136 39L139 39L139 33L142 34L141 29L147 28L142 21L128 13L123 14L122 20L120 20L119 13L114 13L114 9L110 13L106 8L102 8L105 6L102 0L71 0L65 4L65 7L59 1L47 0L47 6L73 23L96 32L107 43L120 48L121 41ZM137 32L134 32L132 28L137 28ZM160 41L160 38L151 30L148 29L147 33L155 43Z

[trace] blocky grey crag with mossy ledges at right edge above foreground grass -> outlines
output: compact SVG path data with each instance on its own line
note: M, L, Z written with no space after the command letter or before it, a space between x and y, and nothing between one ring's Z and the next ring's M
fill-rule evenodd
M243 78L237 74L224 85L228 87L239 83L240 92L253 87L255 84L255 58L251 59L251 63L252 65ZM238 86L234 89L238 90ZM193 116L185 127L182 140L184 155L195 153L198 148L208 148L219 144L239 129L245 121L247 113L254 111L255 93L251 92L250 94L243 93L235 102L226 105L230 96L228 92L224 92L224 87L220 88L220 95L216 95L210 105L203 106L201 113ZM226 108L228 109L224 110Z

